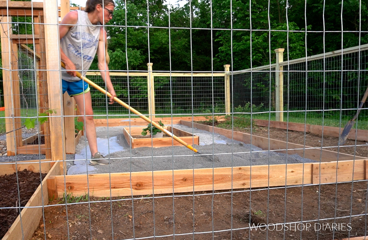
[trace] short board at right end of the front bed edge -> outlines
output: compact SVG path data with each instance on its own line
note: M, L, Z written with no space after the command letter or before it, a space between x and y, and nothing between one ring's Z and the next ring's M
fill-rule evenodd
M367 160L321 162L313 164L313 184L350 182L365 179Z

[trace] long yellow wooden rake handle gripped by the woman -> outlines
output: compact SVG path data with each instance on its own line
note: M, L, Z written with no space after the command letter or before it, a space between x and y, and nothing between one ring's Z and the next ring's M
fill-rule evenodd
M64 62L61 62L61 67L65 68L65 64ZM77 72L77 71L76 71ZM85 76L82 76L79 72L77 72L77 77L84 80L86 83L88 83L89 85L91 85L92 87L94 87L95 89L99 90L101 93L107 95L107 97L111 97L111 94L109 92L106 92L105 89L103 89L102 87L98 86L96 83L92 82L91 80L89 80L88 78L86 78ZM146 122L151 123L153 126L155 126L156 128L160 129L162 132L166 133L167 135L171 136L174 140L176 140L177 142L183 144L185 147L189 148L190 150L194 151L195 153L198 153L198 150L195 149L194 147L190 146L189 144L187 144L186 142L184 142L183 140L181 140L180 138L178 138L177 136L173 135L171 132L169 132L168 130L164 129L162 126L160 126L158 123L151 121L151 119L147 118L146 116L142 115L140 112L138 112L137 110L135 110L134 108L130 107L128 104L124 103L123 101L121 101L119 98L114 97L113 98L114 101L116 101L118 104L122 105L123 107L127 108L129 111L131 111L132 113L138 115L140 118L142 118L143 120L145 120Z

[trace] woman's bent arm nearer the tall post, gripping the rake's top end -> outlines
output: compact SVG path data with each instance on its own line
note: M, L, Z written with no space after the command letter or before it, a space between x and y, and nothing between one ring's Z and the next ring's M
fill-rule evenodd
M68 12L68 14L65 15L65 17L61 21L61 25L59 25L60 39L62 39L67 34L67 32L72 27L72 25L77 24L77 21L78 21L77 11ZM66 24L66 25L63 25L63 24ZM74 70L74 71L67 71L67 73L75 77L77 75L77 72L75 72L77 68L75 68L74 63L67 57L67 55L65 55L61 47L60 47L60 55L61 55L61 61L65 63L65 69Z

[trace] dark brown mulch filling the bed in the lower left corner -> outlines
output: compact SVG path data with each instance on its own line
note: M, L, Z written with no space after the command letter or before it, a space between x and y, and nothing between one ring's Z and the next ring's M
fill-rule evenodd
M42 173L42 178L45 176L46 173ZM18 183L16 173L0 176L0 239L19 215L19 206L22 209L40 185L40 173L27 169L18 171Z

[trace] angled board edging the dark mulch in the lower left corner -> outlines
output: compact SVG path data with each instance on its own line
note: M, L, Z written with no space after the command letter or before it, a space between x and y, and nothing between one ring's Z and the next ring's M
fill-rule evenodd
M22 209L21 214L18 215L8 232L5 233L2 240L31 239L39 225L43 207L49 203L47 179L50 176L58 174L60 174L59 164L54 164L46 177L42 180L42 183L36 189L35 193L33 193L28 203Z

